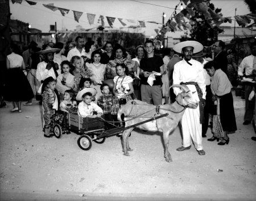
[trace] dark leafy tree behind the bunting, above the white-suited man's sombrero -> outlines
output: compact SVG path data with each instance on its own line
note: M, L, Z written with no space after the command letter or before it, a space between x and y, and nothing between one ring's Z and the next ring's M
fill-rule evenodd
M210 0L204 1L207 6L212 9L216 14L222 15L220 8L215 8ZM205 19L205 15L195 11L195 16L191 18L191 39L199 41L205 46L210 46L217 40L218 33L222 33L223 29L218 27L218 24L214 24L212 19Z

